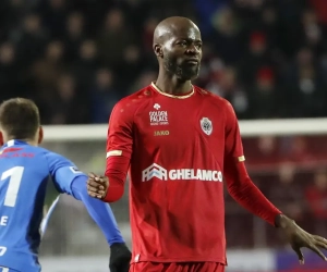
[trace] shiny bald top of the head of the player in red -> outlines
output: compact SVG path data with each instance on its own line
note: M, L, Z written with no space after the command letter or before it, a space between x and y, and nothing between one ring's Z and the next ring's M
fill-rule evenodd
M158 44L160 45L182 32L187 32L190 28L199 33L196 24L194 24L190 18L179 16L165 18L155 29L154 46Z

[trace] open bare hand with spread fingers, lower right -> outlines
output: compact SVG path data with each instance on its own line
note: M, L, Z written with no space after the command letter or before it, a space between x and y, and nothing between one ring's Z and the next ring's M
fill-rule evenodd
M304 264L304 257L301 252L302 247L311 249L323 260L327 261L327 258L319 249L327 249L327 239L305 232L299 225L296 225L293 220L283 214L280 214L276 218L276 225L286 234L286 237L288 238L292 249L296 252L301 264Z

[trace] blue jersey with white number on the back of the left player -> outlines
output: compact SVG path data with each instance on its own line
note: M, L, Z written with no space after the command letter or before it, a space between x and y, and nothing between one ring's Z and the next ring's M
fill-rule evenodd
M0 267L22 272L40 271L38 248L46 226L44 206L49 186L55 186L58 194L74 196L72 184L81 176L87 180L70 160L47 149L20 140L10 140L0 149ZM81 185L86 190L86 184ZM105 205L84 195L74 197L82 201L84 197L94 206L93 211L97 212ZM55 202L56 197L55 194ZM104 209L104 213L108 213L108 209L111 212L108 206ZM111 215L109 221L112 221ZM101 217L106 214L97 214L96 219ZM122 242L116 221L113 228L111 236Z

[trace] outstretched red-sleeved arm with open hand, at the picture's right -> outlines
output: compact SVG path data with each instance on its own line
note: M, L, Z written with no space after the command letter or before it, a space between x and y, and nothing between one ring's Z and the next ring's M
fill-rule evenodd
M229 194L245 209L280 228L296 252L300 263L304 263L302 247L310 248L327 261L319 250L319 247L327 249L327 240L305 232L293 220L283 215L252 183L245 169L239 124L231 104L226 110L225 137L223 172Z

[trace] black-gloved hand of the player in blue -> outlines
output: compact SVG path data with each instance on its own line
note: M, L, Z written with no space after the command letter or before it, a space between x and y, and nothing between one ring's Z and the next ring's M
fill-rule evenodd
M124 243L110 246L110 272L129 272L132 254Z

